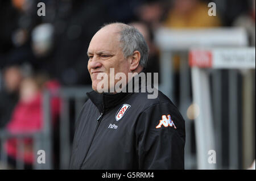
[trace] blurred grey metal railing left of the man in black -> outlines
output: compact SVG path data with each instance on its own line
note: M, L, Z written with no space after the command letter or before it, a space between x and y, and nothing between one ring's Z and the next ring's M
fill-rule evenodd
M8 169L7 167L7 153L5 151L5 143L9 138L18 139L17 153L23 155L24 153L24 138L31 138L33 142L34 150L34 164L32 169L55 169L53 165L53 160L60 156L60 162L57 164L59 169L68 169L69 158L72 148L72 135L70 124L71 120L76 120L80 113L81 107L87 98L86 92L91 91L91 86L80 87L80 88L62 88L58 92L51 93L48 90L44 91L43 94L43 129L40 132L35 133L17 133L12 134L5 130L0 131L0 143L1 143L1 153L0 153L0 169ZM53 155L53 128L51 120L51 98L58 97L61 100L61 111L59 119L60 127L60 140L59 140L59 150L60 153ZM75 100L75 116L70 117L70 100ZM46 156L45 163L38 163L36 156L38 156L38 151L43 150ZM24 169L23 159L16 159L15 169Z

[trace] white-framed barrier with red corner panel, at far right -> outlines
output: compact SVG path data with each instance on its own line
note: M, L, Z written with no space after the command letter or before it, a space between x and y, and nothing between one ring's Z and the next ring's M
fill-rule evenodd
M218 167L222 169L222 158L225 156L228 158L228 164L225 169L242 169L249 167L244 163L240 163L240 158L243 157L243 153L240 154L240 143L247 144L241 145L242 149L249 150L249 153L253 151L253 112L255 107L253 106L253 95L252 85L255 85L255 80L246 77L250 75L250 69L255 72L255 47L251 48L208 48L208 49L192 49L191 56L189 59L190 65L192 66L192 87L193 87L193 101L199 106L200 115L196 117L196 136L199 142L197 143L197 151L199 157L199 169L212 169L214 164L209 164L207 152L214 150L220 157L217 159ZM206 69L207 68L207 69ZM213 69L209 71L208 69ZM213 74L213 83L210 85L210 74L216 69L226 69L228 74L226 76L228 88L228 96L221 97L222 90L218 87L222 82L221 73L217 71ZM243 70L243 73L239 73L238 70ZM249 69L249 70L248 70ZM241 86L238 86L238 74L242 75ZM240 87L242 89L240 90ZM213 90L212 99L210 98L210 90ZM242 91L241 96L238 93ZM247 97L247 101L242 101L242 97ZM213 103L212 103L213 102ZM228 123L228 154L222 154L222 119L221 113L223 102L227 102L227 116L228 119L225 121ZM239 107L239 105L242 105ZM213 105L213 109L212 109ZM213 110L213 111L212 111ZM243 115L243 116L240 116ZM213 121L213 119L216 119ZM242 121L241 121L242 120ZM216 126L214 127L214 123ZM248 125L251 127L248 127ZM246 129L244 129L246 128ZM244 129L244 130L243 130ZM246 134L250 132L250 134ZM254 130L255 132L255 130ZM240 140L239 137L245 138ZM216 141L215 141L216 140ZM255 142L254 142L255 144ZM215 147L217 145L217 148ZM250 146L251 145L251 146ZM247 151L248 152L248 151ZM253 161L253 154L250 153L251 162ZM246 161L245 158L242 158ZM251 163L249 163L251 164Z

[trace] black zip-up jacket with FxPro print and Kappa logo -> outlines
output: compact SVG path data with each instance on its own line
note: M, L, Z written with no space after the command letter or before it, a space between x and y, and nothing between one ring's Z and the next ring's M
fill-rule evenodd
M69 169L184 169L183 117L162 92L148 94L87 93Z

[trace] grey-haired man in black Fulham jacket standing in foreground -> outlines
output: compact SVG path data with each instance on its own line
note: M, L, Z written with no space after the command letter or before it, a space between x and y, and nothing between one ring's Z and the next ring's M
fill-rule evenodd
M129 91L147 63L146 41L137 29L122 23L101 28L88 48L93 91L79 116L70 169L184 169L185 126L177 108L162 92L142 92L143 81ZM123 73L122 92L99 93L100 74Z

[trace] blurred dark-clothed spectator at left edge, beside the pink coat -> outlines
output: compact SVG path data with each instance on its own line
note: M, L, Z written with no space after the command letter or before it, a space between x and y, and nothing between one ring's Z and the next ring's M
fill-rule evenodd
M0 129L10 121L11 113L18 102L22 72L18 66L10 66L3 72L4 89L0 91Z

